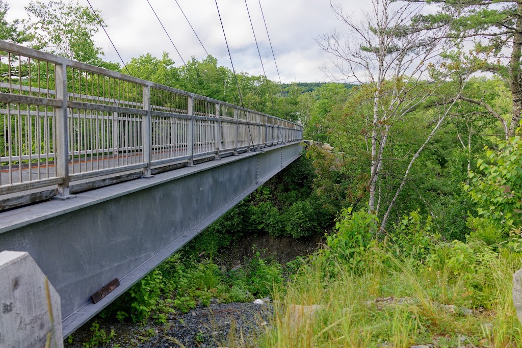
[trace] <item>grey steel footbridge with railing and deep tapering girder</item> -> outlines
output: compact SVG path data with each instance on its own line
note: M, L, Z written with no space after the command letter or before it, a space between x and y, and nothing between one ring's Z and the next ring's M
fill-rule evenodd
M46 274L63 337L301 153L299 124L4 41L0 51L0 251L28 251Z

